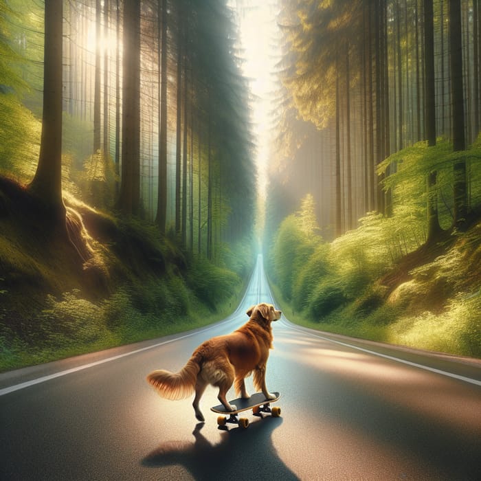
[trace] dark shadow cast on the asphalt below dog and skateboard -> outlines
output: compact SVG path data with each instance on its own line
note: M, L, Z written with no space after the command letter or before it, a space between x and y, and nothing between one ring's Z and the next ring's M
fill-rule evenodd
M195 441L162 443L142 460L145 467L182 465L196 480L214 479L282 479L299 480L282 462L274 447L271 434L282 424L282 418L251 423L248 429L232 428L222 433L220 443L212 445L196 425Z

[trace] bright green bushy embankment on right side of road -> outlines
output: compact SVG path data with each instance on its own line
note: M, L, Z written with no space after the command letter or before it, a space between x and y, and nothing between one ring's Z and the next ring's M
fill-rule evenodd
M326 332L481 358L481 217L394 259L409 233L399 225L371 214L327 243L288 217L269 266L283 311Z

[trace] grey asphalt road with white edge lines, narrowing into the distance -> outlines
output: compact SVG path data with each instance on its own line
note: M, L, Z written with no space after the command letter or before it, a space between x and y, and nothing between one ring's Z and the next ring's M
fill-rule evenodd
M283 318L267 364L280 418L223 432L214 388L197 423L192 399L161 399L146 383L259 301L271 302L261 262L239 309L215 326L0 374L0 480L481 480L480 361Z

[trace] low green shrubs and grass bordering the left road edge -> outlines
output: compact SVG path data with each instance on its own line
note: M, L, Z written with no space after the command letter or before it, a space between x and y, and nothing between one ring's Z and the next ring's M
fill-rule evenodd
M63 293L60 299L48 295L46 309L25 326L22 335L0 319L0 371L188 331L221 320L234 310L245 288L236 274L227 271L226 278L230 289L220 293L213 306L206 306L177 277L150 280L145 285L149 295L143 309L135 306L139 293L126 287L100 302L82 298L78 289ZM222 278L217 279L225 285Z

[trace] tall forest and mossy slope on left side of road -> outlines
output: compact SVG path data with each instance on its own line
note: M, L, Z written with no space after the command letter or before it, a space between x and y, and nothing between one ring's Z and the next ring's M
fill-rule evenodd
M0 368L232 309L256 203L235 10L2 0L0 32Z

